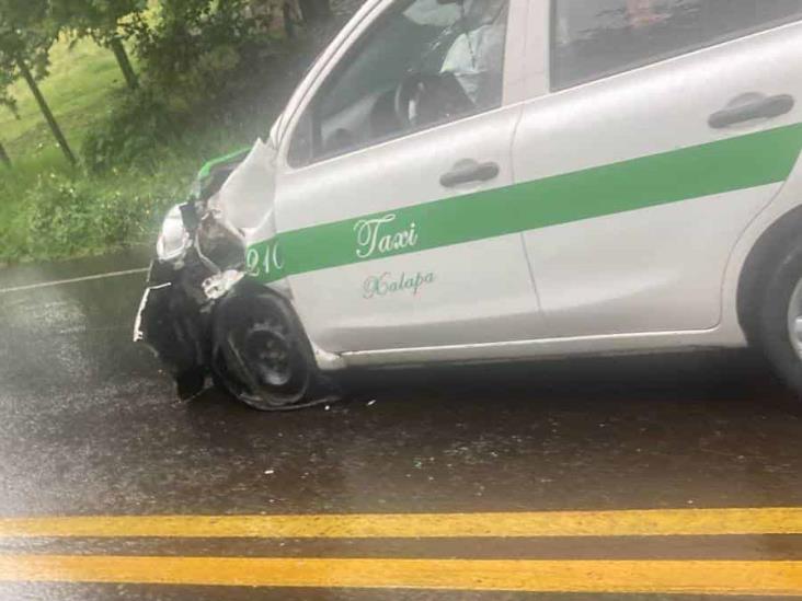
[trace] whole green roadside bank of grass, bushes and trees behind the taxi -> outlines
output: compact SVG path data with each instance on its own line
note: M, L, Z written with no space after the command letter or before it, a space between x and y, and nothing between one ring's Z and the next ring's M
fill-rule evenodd
M12 162L0 162L0 263L152 240L164 209L185 197L206 160L266 134L297 77L339 26L309 24L312 34L289 39L276 30L275 10L243 10L259 2L280 7L275 0L32 0L45 7L36 12L45 25L24 38L34 39L26 46L2 37L21 31L8 23L22 18L3 13L13 1L0 0L0 145ZM83 4L111 12L56 10ZM126 10L139 16L121 25ZM42 32L61 33L49 39ZM123 39L121 58L112 46ZM33 85L21 78L28 65ZM35 88L77 165L56 142Z

